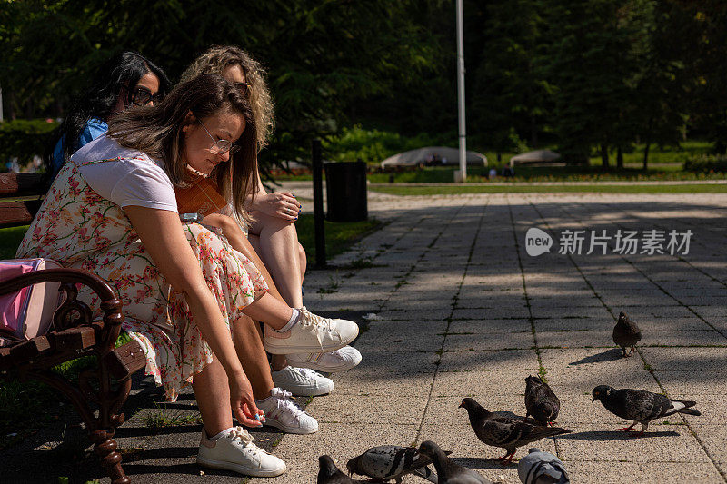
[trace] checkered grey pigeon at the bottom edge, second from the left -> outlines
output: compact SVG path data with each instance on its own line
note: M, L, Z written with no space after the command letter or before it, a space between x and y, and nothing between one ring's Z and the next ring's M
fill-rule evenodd
M393 479L401 482L406 474L417 474L436 483L437 475L426 467L431 463L432 459L423 456L415 447L381 445L350 459L346 463L346 469L350 474L360 474L382 481Z

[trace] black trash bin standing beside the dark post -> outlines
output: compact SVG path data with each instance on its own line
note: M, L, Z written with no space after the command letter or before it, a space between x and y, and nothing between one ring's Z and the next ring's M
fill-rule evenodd
M325 194L331 222L359 222L369 216L366 163L325 163Z

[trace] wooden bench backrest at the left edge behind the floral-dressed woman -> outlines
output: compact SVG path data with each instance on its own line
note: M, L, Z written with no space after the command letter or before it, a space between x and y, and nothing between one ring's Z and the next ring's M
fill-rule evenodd
M0 228L32 222L46 190L45 173L0 173Z

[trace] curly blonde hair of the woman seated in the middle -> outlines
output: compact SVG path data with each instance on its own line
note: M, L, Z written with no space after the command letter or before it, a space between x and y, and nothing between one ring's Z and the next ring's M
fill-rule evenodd
M184 83L201 74L222 74L230 65L237 64L243 69L244 80L249 84L248 101L253 110L257 148L262 150L273 133L273 100L265 83L263 66L250 54L234 45L214 45L194 59L182 74Z

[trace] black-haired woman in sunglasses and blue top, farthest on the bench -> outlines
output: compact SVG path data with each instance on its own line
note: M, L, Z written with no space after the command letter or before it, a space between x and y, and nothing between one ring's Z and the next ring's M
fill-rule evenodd
M45 172L55 178L73 153L108 130L115 114L132 105L153 105L170 86L162 68L142 54L127 51L107 60L58 128L59 139L45 154Z

